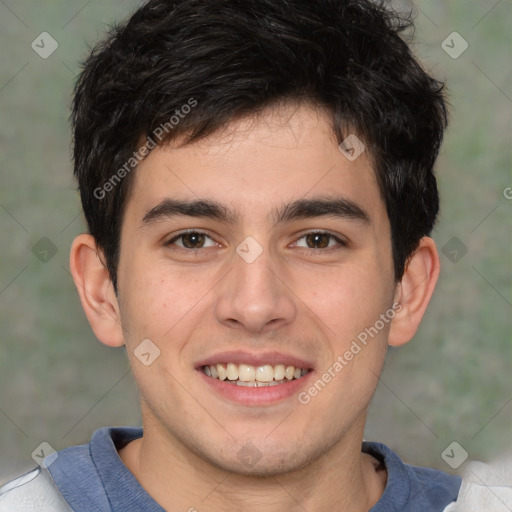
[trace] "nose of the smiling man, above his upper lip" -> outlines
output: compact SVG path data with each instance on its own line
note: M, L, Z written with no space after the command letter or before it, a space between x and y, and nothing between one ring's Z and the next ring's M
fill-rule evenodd
M248 262L235 254L233 268L219 283L215 305L217 320L232 329L252 334L276 330L292 323L297 303L283 268L266 252Z

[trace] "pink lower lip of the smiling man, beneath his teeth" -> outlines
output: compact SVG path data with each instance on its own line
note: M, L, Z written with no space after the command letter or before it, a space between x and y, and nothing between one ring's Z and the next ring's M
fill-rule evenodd
M297 395L300 389L306 386L311 375L314 373L310 370L309 373L302 376L300 379L294 379L290 382L278 384L277 386L250 388L247 386L238 386L237 384L229 384L229 382L208 377L202 370L198 370L198 372L214 392L224 398L245 405L268 405Z

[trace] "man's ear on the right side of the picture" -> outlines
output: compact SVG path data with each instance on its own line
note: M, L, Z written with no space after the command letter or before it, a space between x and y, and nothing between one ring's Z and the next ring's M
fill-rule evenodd
M389 331L389 344L407 343L420 325L439 277L440 261L434 240L423 237L405 267L395 292L395 317Z

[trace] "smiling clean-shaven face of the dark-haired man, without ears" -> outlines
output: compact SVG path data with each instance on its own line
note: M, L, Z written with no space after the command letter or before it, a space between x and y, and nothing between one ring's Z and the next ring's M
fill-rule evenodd
M247 474L357 444L392 318L390 239L366 153L347 159L312 107L153 150L118 268L145 435Z

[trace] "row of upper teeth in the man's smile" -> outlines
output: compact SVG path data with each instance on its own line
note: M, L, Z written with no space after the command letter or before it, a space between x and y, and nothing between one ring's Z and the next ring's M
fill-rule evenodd
M285 366L284 364L252 366L250 364L234 363L206 365L203 367L203 371L214 379L238 379L241 382L271 382L272 380L279 381L285 378L292 380L298 379L308 372L307 369Z

